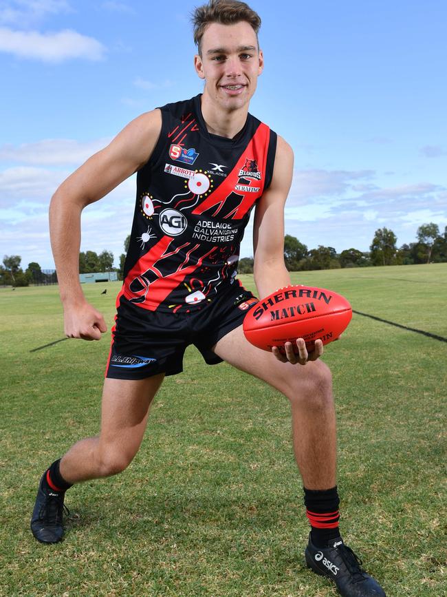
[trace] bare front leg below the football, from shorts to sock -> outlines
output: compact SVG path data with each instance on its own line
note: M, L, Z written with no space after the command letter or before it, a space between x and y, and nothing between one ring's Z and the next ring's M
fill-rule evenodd
M320 360L305 365L281 363L272 354L252 346L242 326L220 339L213 350L229 364L267 381L289 399L294 453L305 487L334 487L336 419L329 368Z

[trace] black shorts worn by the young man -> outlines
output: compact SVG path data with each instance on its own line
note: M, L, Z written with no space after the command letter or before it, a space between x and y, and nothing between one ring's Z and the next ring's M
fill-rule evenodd
M189 344L197 346L208 365L221 363L212 346L241 325L256 303L257 298L238 281L193 313L147 311L121 296L105 377L144 379L182 373Z

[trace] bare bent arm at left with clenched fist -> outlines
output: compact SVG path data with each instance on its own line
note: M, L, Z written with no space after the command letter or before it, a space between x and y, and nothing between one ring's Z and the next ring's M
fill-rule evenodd
M81 212L146 163L161 125L160 110L135 118L105 149L69 176L52 197L50 237L64 306L65 334L69 337L100 339L100 333L107 331L102 315L87 303L79 283Z

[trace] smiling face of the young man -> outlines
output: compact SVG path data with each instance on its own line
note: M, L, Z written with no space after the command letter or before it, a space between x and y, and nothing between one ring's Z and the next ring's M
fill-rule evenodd
M201 39L201 56L195 70L205 79L205 91L226 110L248 105L263 70L263 55L257 36L246 21L234 25L211 23Z

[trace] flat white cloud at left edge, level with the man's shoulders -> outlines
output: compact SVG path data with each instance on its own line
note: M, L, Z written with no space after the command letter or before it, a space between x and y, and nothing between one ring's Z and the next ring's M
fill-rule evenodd
M0 147L0 160L44 166L80 165L109 142L109 138L85 143L73 139L44 139L19 147L3 145Z

